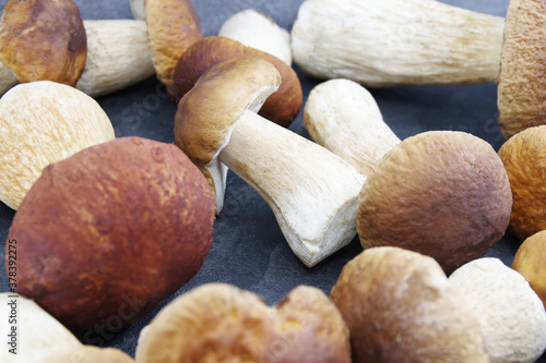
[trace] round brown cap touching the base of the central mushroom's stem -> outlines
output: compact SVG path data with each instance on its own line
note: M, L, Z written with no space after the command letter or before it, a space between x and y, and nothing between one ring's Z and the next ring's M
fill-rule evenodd
M487 142L464 132L430 131L383 157L358 204L365 249L416 251L450 274L501 239L512 194L502 161Z

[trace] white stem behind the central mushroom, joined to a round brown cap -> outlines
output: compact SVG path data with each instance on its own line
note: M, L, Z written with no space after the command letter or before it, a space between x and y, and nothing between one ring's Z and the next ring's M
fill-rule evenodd
M373 96L349 80L317 85L304 108L304 124L310 137L364 176L400 143L384 123Z

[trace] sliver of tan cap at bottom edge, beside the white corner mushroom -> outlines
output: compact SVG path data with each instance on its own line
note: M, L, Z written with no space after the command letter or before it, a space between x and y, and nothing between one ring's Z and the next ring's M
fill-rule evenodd
M49 355L39 363L134 363L134 360L115 348L84 346L69 352Z

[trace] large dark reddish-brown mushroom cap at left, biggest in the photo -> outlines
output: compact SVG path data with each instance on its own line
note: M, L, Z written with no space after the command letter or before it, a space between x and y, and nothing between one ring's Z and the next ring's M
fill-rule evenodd
M16 290L69 328L121 329L197 274L213 220L203 176L175 145L88 147L48 166L19 208Z

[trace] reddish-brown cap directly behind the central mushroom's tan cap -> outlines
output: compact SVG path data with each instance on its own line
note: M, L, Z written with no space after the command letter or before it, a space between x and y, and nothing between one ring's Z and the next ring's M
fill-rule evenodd
M263 58L278 70L283 80L281 87L268 98L259 114L282 126L288 126L298 116L304 97L296 72L278 58L246 47L234 39L210 36L189 47L180 57L175 69L176 97L179 99L186 95L207 69L237 56Z

